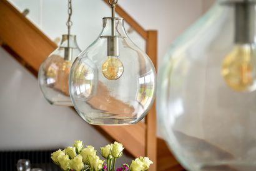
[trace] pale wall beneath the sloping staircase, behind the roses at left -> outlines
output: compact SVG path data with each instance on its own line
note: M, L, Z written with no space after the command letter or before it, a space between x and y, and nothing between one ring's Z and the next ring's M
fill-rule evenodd
M111 143L71 108L47 103L36 77L2 48L0 78L0 150L56 149L82 140L99 151Z

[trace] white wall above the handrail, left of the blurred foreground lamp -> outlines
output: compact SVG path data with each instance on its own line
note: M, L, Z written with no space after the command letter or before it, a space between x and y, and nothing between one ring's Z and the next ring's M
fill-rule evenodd
M129 0L119 4L144 29L158 30L159 61L170 44L202 14L202 0Z

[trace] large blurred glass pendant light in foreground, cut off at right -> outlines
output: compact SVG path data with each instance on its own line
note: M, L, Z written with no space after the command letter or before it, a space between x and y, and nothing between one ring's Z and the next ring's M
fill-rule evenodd
M157 111L187 170L256 170L256 1L217 1L167 52Z

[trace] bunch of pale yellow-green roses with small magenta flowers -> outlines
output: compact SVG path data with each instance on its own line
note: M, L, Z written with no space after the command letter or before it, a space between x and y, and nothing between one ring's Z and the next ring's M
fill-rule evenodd
M53 152L51 159L62 170L115 171L116 160L122 157L123 150L124 147L118 142L101 147L101 155L106 159L101 160L93 146L84 147L82 141L75 141L73 147ZM153 162L148 157L139 157L132 160L130 166L123 164L116 171L145 171L149 170L150 164L153 164Z

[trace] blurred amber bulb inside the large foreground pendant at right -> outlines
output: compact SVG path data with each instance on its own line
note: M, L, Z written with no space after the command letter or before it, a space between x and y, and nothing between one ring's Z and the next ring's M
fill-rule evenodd
M222 75L227 85L237 91L254 91L256 89L256 53L255 45L235 45L225 57Z

